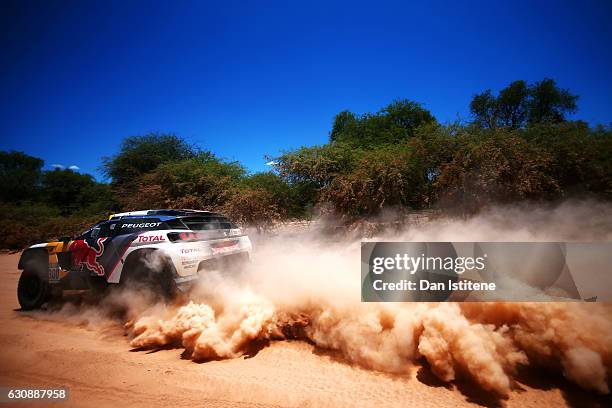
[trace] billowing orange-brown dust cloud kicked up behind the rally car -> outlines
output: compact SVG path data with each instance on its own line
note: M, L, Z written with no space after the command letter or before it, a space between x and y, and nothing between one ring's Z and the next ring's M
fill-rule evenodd
M585 389L610 392L611 304L361 303L358 235L339 239L317 227L254 235L252 262L239 279L211 272L174 304L123 300L131 345L182 347L205 361L241 356L262 341L298 338L388 373L409 373L424 359L442 381L468 378L501 396L515 387L521 366L547 367ZM501 207L370 239L610 241L612 207Z

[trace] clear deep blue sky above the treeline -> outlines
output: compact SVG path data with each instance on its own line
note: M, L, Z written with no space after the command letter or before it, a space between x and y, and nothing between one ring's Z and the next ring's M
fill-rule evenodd
M101 177L125 136L173 132L265 170L336 113L409 98L442 122L551 77L612 122L612 3L2 1L0 150Z

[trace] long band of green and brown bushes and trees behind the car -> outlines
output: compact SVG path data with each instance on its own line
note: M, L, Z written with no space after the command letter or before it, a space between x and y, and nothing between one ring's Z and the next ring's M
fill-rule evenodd
M103 159L111 185L0 152L0 247L74 235L110 211L155 207L223 211L265 229L308 217L316 205L352 221L385 208L476 212L497 202L611 199L612 129L566 122L576 100L552 80L515 81L497 96L476 95L468 125L440 125L408 100L344 111L328 144L284 152L274 171L252 175L168 134L126 138Z

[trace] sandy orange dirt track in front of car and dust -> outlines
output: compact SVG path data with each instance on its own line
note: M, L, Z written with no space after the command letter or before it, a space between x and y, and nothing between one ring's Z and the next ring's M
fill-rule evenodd
M181 349L131 351L120 324L93 329L16 310L17 260L16 254L0 255L0 385L66 386L70 406L439 408L609 403L562 379L543 380L538 374L523 376L524 383L500 401L469 384L444 386L426 367L415 367L409 376L391 376L353 367L304 342L275 342L250 358L203 364L181 358Z

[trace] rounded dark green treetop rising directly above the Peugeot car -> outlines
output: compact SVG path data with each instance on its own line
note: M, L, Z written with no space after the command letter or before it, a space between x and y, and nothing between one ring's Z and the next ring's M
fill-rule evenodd
M105 175L121 185L155 170L160 164L196 156L195 149L172 134L149 133L127 137L119 153L102 159Z

